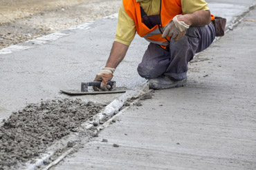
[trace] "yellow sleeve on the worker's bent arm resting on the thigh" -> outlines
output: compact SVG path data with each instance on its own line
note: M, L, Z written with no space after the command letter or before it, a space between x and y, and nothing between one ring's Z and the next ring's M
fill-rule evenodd
M192 14L196 10L209 10L204 0L181 0L183 14Z

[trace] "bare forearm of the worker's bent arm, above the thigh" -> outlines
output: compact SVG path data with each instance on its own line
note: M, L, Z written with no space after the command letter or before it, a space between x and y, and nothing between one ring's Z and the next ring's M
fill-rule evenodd
M178 17L179 21L184 21L190 26L204 26L211 21L209 10L198 10L192 14L184 14Z

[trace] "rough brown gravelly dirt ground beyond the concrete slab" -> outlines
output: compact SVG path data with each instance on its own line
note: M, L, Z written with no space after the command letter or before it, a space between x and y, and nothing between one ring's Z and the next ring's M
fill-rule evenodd
M118 12L120 0L2 0L0 49Z

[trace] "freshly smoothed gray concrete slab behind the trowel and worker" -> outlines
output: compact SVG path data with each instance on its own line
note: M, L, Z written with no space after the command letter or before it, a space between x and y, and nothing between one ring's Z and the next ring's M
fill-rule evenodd
M253 2L211 0L209 6L213 14L227 17L230 23ZM79 89L82 81L92 81L107 61L116 22L117 15L0 50L0 122L27 103L65 98L60 89ZM145 81L136 67L147 44L136 36L113 78L119 87L134 88ZM118 96L80 98L109 103Z

